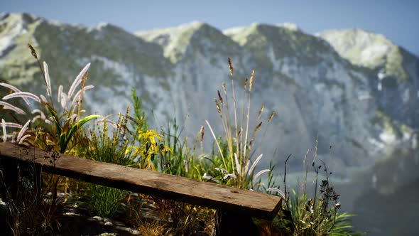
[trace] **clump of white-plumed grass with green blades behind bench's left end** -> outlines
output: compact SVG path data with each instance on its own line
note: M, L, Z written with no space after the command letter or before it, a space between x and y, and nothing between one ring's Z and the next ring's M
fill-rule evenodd
M34 128L36 129L25 129L24 132L28 131L28 133L25 135L22 133L20 136L21 139L18 140L18 142L23 143L25 139L30 138L27 142L33 146L38 146L41 149L50 151L52 148L60 153L71 153L72 147L77 143L77 141L72 141L72 139L75 138L75 133L87 122L101 117L97 114L89 115L87 117L81 116L81 113L83 112L81 109L82 97L87 90L93 88L92 85L85 86L87 76L89 75L88 70L90 63L82 69L79 75L77 75L67 94L62 92L62 85L59 86L58 103L60 103L62 109L62 113L60 113L58 112L58 109L55 109L55 104L53 102L48 65L45 62L41 65L36 50L31 44L28 44L28 47L31 49L31 54L37 60L40 67L48 99L44 95L37 96L31 92L21 92L21 90L18 90L18 88L13 85L0 83L1 86L13 91L11 94L4 96L3 100L21 98L28 105L29 109L31 109L31 113L34 114L32 119L29 119L22 129L27 128L30 122L35 124ZM80 84L81 89L78 92L75 92ZM38 108L33 108L33 104L31 104L29 99L37 102L40 106ZM1 101L0 104L3 105L3 109L11 109L17 114L26 115L26 112L24 112L23 109L15 107L8 102ZM45 113L48 114L48 117ZM4 140L6 139L5 127L18 127L16 124L6 122L2 122L2 126L4 127Z

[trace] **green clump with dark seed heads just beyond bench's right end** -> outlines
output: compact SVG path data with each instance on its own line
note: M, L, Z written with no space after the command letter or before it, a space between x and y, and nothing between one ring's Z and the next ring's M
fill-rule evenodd
M285 208L281 210L281 225L285 232L293 235L361 235L352 229L349 220L352 215L340 213L339 194L330 182L332 172L327 171L326 163L317 159L316 139L315 154L311 164L307 160L309 151L305 154L303 163L305 166L305 178L298 187L297 191L292 190L292 195L287 193L285 198ZM290 156L288 156L288 159ZM288 159L286 161L288 161ZM284 186L286 188L286 161L284 173ZM307 183L309 166L315 171L314 195L309 198ZM323 173L322 173L323 172ZM324 179L320 181L320 176Z

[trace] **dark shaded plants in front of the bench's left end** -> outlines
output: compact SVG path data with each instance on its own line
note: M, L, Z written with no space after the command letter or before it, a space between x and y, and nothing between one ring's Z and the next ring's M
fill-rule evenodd
M4 171L0 174L1 198L6 201L6 220L8 227L2 228L5 235L45 235L60 230L60 218L64 213L64 199L48 193L56 189L58 180L50 175L50 182L40 188L39 169L35 166L16 168L16 181L13 188L6 185ZM7 172L7 171L5 171ZM0 224L1 224L0 223Z

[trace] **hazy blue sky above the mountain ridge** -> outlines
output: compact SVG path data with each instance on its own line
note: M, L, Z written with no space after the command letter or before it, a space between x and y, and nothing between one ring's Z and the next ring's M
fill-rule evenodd
M202 21L219 28L251 23L296 23L306 33L331 28L363 28L419 55L418 0L328 1L21 1L1 0L1 12L28 12L65 23L113 23L126 31Z

